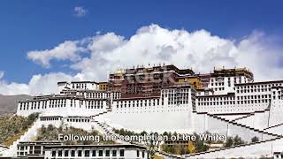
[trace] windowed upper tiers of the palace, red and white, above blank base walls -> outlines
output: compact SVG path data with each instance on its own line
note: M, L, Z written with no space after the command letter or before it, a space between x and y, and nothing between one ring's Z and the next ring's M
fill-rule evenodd
M272 87L282 86L282 81L254 82L253 73L246 68L195 74L190 69L164 65L111 73L108 82L64 81L57 85L58 95L34 96L32 100L19 102L18 115L57 114L58 110L64 110L66 114L93 116L113 107L165 108L180 104L195 112L249 113L268 109Z

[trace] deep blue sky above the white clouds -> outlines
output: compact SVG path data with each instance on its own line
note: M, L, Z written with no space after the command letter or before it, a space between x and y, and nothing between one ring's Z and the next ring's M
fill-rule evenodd
M205 29L213 35L240 41L255 30L282 42L283 1L1 1L0 71L6 82L27 83L34 74L65 72L70 61L46 69L27 59L31 50L52 49L65 41L81 40L96 32L131 37L137 29L157 24L188 32ZM76 16L74 8L86 13Z

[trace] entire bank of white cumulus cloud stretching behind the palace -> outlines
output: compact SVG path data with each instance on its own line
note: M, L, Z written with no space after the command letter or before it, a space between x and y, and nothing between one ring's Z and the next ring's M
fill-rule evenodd
M49 67L52 59L71 61L70 69L77 74L34 75L29 84L19 85L28 94L49 94L56 91L57 80L106 80L110 72L137 64L175 64L202 73L212 71L213 67L247 67L257 81L282 79L282 50L272 36L257 31L234 40L206 30L190 33L150 25L138 29L128 39L114 33L96 34L80 41L63 42L54 49L29 51L27 57L44 67ZM88 56L81 56L82 52L88 52ZM19 86L2 82L0 93L9 87Z

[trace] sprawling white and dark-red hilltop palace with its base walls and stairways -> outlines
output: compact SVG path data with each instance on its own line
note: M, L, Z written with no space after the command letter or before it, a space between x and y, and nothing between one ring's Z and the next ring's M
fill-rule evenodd
M124 128L134 132L210 132L239 135L243 140L257 136L255 143L185 158L281 157L283 80L255 82L247 68L211 70L200 74L159 64L111 73L107 82L60 81L56 94L19 102L17 115L38 112L40 118L6 154L17 155L20 141L30 140L41 125L51 124L105 134L111 134L111 128Z

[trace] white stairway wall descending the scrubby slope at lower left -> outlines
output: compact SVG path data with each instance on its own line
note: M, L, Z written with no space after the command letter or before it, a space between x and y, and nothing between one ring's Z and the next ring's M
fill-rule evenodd
M36 134L37 130L41 127L41 121L40 118L38 117L34 124L28 128L27 132L24 133L22 136L20 136L19 140L16 140L12 143L12 145L9 147L9 149L5 150L3 155L4 156L16 156L17 155L17 146L20 141L28 141L33 139Z

